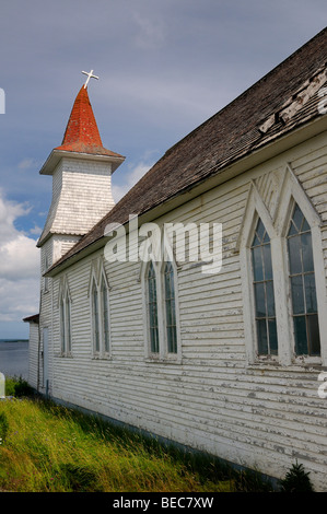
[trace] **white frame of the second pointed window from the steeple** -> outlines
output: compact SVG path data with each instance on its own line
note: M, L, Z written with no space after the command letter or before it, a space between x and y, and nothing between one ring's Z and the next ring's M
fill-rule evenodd
M106 288L106 304L107 304L107 335L108 335L108 349L105 344L105 316L104 316L104 302L102 294L103 284ZM95 340L95 318L94 318L94 303L93 292L96 289L97 293L97 327L98 327L98 349L96 349ZM91 340L92 340L92 357L93 359L110 359L112 358L112 335L110 335L110 302L109 302L109 284L105 268L102 259L92 262L90 284L89 284L89 300L91 313Z

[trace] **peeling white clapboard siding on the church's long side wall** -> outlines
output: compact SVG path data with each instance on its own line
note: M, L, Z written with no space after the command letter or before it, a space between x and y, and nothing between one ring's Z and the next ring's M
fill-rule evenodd
M317 395L318 369L247 364L237 241L250 188L255 185L273 217L288 165L322 222L327 221L326 149L325 136L313 138L157 220L160 225L222 223L223 229L220 273L177 262L179 361L147 359L141 262L108 264L100 249L51 279L40 322L51 326L51 395L268 475L283 476L299 457L323 489L327 399ZM69 244L65 241L62 248ZM322 245L325 277L318 280L327 283L327 225ZM108 359L94 359L92 350L90 278L98 259L109 285ZM60 355L63 274L72 301L71 357Z

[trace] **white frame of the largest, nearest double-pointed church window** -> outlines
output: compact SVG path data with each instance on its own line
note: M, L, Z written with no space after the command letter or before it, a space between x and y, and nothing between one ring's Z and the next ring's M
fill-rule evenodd
M270 215L254 182L250 184L245 214L241 227L237 248L240 250L241 274L244 294L245 348L248 364L276 365L327 365L327 316L325 280L316 280L317 309L320 334L320 355L295 355L293 316L289 277L289 255L287 234L294 203L302 210L311 226L315 277L324 277L325 266L322 244L322 221L306 196L290 165L287 165L279 201ZM273 292L276 305L278 355L258 355L255 327L255 304L250 244L258 218L270 237L271 262L273 271Z

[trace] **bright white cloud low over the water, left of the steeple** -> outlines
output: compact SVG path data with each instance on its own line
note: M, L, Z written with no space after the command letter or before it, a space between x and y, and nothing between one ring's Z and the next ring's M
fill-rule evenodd
M0 322L20 322L38 308L39 254L36 241L14 222L30 211L0 189Z

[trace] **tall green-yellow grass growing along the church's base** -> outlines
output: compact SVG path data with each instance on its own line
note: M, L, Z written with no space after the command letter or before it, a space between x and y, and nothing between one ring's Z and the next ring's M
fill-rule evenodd
M256 472L22 397L0 401L0 490L16 492L233 492L271 490ZM25 384L26 385L26 384ZM8 394L8 393L7 393Z

